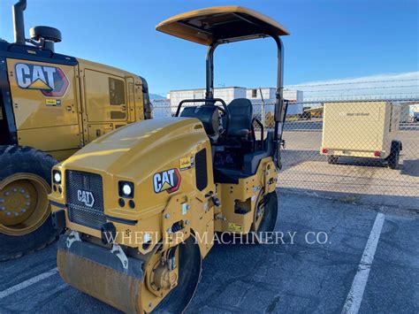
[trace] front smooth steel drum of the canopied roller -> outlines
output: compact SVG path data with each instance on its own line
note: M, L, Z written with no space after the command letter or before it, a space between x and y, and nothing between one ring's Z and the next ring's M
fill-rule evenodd
M179 313L186 309L201 275L202 258L194 236L165 252L156 246L141 257L126 257L118 246L81 241L72 232L58 243L57 265L65 282L118 310Z

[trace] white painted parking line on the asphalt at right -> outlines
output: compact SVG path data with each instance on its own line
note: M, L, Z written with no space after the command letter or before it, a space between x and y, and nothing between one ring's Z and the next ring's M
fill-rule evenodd
M358 271L355 274L351 290L347 295L347 301L343 306L342 314L356 314L360 310L362 296L365 291L365 286L367 285L369 271L371 269L372 261L374 260L374 255L376 254L377 244L380 239L384 221L385 215L381 212L377 213L376 221L374 222L374 226L372 226L367 245L363 250L361 262L358 265Z

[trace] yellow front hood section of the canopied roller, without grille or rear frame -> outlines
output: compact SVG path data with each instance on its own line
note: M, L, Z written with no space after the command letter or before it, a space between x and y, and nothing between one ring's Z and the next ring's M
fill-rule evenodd
M212 222L213 207L209 206L205 197L205 195L216 191L210 167L205 165L208 169L206 175L209 178L209 185L202 191L196 189L195 168L181 170L180 167L183 160L194 158L196 153L202 149L205 149L207 160L210 162L209 140L199 121L193 119L152 119L104 135L87 147L80 149L55 169L62 173L71 169L77 172L99 174L103 180L104 215L109 217L110 221L112 218L121 218L136 222L134 225L126 225L114 221L119 236L118 243L137 248L145 254L152 248L144 250L141 248L142 243L125 235L130 234L130 231L133 236L135 232L158 232L157 238L162 238L164 230L175 223L175 219L178 218L178 215L174 215L168 219L167 223L164 221L164 226L170 224L164 229L162 212L172 198L179 199L179 202L187 203L193 208L203 208L206 204L208 211L200 211L202 215L193 215L192 211L187 211L185 215L182 215L182 220L192 220L190 226L193 225L195 231L205 231L209 222ZM167 193L164 190L156 193L154 176L156 173L171 169L175 169L176 173L170 174L179 177L179 190L176 193ZM63 176L62 184L57 187L62 188L63 191L67 190L65 178ZM135 208L130 208L128 202L123 207L118 203L120 199L118 195L119 181L133 182ZM166 183L170 185L170 182ZM66 204L68 202L66 197L65 193L50 195L53 211L57 210L54 203ZM194 224L194 219L197 219L197 224ZM100 229L74 224L68 218L68 214L66 226L71 230L90 234L97 238L101 237Z

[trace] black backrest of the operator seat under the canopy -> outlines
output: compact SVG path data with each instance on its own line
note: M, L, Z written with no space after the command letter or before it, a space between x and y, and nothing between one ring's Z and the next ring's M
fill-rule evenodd
M230 126L228 137L246 137L252 130L253 105L246 98L233 99L228 105Z

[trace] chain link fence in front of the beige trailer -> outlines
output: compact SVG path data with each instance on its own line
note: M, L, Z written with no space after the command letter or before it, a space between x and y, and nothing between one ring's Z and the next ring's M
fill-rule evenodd
M278 187L417 200L419 122L412 116L413 104L290 103ZM254 103L254 117L265 132L274 126L273 110L274 103ZM154 103L154 112L158 119L174 115L175 109Z

